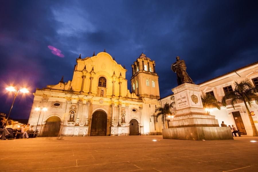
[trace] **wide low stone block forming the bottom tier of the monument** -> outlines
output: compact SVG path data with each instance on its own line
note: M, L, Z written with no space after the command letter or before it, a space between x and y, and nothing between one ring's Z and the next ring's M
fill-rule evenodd
M180 127L162 129L163 139L233 140L229 127Z

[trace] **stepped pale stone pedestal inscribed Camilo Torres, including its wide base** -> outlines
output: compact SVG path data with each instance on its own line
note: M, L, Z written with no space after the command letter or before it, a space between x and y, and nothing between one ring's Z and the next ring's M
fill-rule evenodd
M200 86L184 83L172 89L175 96L175 117L169 128L162 129L164 139L228 140L233 139L229 127L219 127L215 116L203 108Z

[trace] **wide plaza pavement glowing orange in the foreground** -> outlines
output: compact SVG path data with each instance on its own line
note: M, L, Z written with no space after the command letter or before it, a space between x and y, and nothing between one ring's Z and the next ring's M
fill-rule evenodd
M1 140L0 171L258 171L258 137L93 136ZM157 141L152 141L152 140Z

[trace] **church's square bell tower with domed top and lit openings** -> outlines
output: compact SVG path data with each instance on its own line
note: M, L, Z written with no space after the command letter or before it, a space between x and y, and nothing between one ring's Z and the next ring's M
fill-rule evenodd
M132 91L140 97L159 99L159 76L155 72L155 61L142 53L131 67Z

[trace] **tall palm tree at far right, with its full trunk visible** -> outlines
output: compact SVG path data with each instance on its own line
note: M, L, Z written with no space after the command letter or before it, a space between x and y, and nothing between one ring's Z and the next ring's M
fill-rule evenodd
M222 104L226 106L227 104L226 100L230 99L229 102L232 105L232 107L235 109L234 105L236 103L243 101L245 103L245 107L253 129L253 136L258 136L257 129L253 122L253 118L247 106L247 103L248 103L249 106L251 107L251 103L254 100L255 102L258 102L258 95L256 95L257 88L255 88L248 79L245 79L239 83L235 81L234 85L235 85L235 89L233 91L225 93L225 96L222 98Z

